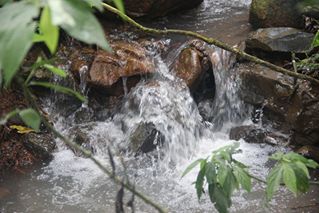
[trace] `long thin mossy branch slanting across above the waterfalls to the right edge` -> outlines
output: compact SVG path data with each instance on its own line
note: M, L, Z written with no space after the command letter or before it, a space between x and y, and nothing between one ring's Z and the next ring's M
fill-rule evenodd
M300 74L300 73L295 73L295 72L292 72L292 71L289 71L289 70L286 70L282 67L278 67L272 63L269 63L269 62L266 62L264 60L261 60L259 58L256 58L252 55L249 55L247 53L244 53L243 51L240 51L239 49L236 49L232 46L229 46L227 44L224 44L223 42L220 42L216 39L213 39L213 38L206 38L200 34L197 34L197 33L193 33L191 31L186 31L186 30L156 30L156 29L152 29L152 28L148 28L148 27L144 27L140 24L138 24L137 22L135 22L133 19L131 19L130 17L128 17L127 15L123 14L121 11L115 9L114 7L108 5L108 4L105 4L105 3L101 3L103 5L103 7L105 9L107 9L108 11L111 11L121 17L124 17L124 20L127 21L128 23L130 23L131 25L133 25L134 27L136 27L138 30L141 30L143 32L146 32L146 33L152 33L152 34L181 34L181 35L189 35L189 36L192 36L194 38L197 38L197 39L200 39L200 40L203 40L204 42L206 42L207 44L213 44L213 45L216 45L220 48L223 48L229 52L232 52L238 56L240 56L241 58L243 59L246 59L248 61L251 61L251 62L255 62L255 63L258 63L258 64L261 64L262 66L265 66L265 67L268 67L272 70L275 70L277 72L280 72L284 75L288 75L288 76L292 76L292 77L295 77L295 78L301 78L301 79L305 79L307 81L310 81L311 83L313 84L316 84L316 85L319 85L319 80L313 78L313 77L310 77L310 76L306 76L306 75L303 75L303 74Z

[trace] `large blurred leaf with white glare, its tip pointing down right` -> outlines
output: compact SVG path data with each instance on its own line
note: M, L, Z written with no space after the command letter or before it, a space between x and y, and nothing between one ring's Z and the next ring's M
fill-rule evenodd
M70 36L111 51L100 22L83 1L48 0L52 24L62 27Z

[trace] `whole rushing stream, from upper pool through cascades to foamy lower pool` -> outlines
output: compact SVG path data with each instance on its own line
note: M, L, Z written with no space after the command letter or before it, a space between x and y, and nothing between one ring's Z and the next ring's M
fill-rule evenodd
M153 28L190 30L235 45L252 31L248 24L250 2L204 0L193 10L141 23ZM161 37L169 39L171 44L184 39L177 35ZM252 124L253 107L238 98L240 80L236 76L236 66L232 66L232 55L219 48L211 48L215 48L216 54L222 58L213 66L218 86L211 103L202 101L197 104L186 84L169 72L173 59L162 59L157 55L154 57L155 75L142 79L130 92L125 92L121 107L112 118L76 124L74 117L59 116L53 107L46 110L52 117L58 117L55 128L64 135L70 136L74 127L84 131L90 138L90 149L109 169L110 147L116 174L123 179L127 177L137 190L169 212L217 212L207 193L198 201L196 188L191 185L197 178L198 167L182 180L180 177L196 159L206 158L211 151L234 143L228 136L230 129ZM81 84L85 88L85 82ZM85 89L83 94L86 94ZM86 109L87 106L83 104L81 108ZM204 121L200 110L213 115L211 121ZM152 122L165 136L165 144L136 157L126 153L121 160L118 149L129 146L132 132L140 123L146 122ZM234 158L250 166L249 173L262 179L266 179L275 166L275 162L268 161L273 153L292 151L288 147L251 144L244 140L239 142L243 152L234 155ZM120 186L91 159L75 155L60 140L57 140L56 152L50 162L35 165L26 175L2 175L0 186L11 191L0 200L1 212L115 212L115 199L120 190ZM261 201L265 187L265 184L252 180L250 194L243 189L235 190L230 212L263 212ZM310 186L306 195L298 193L295 198L288 189L280 187L270 201L270 212L290 212L293 207L316 203L318 189ZM132 194L125 190L124 203L129 202L131 197ZM134 197L134 210L156 212L137 196ZM125 205L125 212L131 212L130 207ZM302 212L302 209L291 212Z

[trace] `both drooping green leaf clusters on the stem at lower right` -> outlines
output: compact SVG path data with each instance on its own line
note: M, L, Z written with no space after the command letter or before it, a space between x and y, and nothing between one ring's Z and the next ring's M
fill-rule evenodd
M191 169L199 163L200 171L197 175L196 190L198 199L204 191L203 186L206 179L208 183L208 192L211 202L220 213L227 213L231 206L231 196L234 190L240 190L240 185L248 193L251 190L251 177L261 180L253 175L250 175L245 169L248 166L233 159L232 155L240 153L237 149L239 143L225 146L217 151L212 152L211 160L198 159L189 165L182 177L184 177ZM273 154L269 160L277 160L278 164L271 170L267 177L267 188L262 200L262 208L268 208L268 201L271 199L279 187L284 184L297 196L297 190L305 193L309 189L309 172L308 167L315 168L318 164L310 159L304 158L296 153L284 154L283 152ZM182 178L181 177L181 178ZM282 180L283 183L282 183Z

